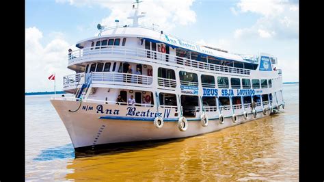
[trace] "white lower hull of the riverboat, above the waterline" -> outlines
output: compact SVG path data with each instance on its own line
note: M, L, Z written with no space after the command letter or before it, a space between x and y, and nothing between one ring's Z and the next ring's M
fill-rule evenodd
M186 138L232 127L270 114L270 111L266 115L259 111L256 118L254 118L251 112L247 112L248 118L245 120L243 115L239 115L237 116L237 122L233 122L231 116L225 116L223 124L219 122L218 117L212 118L209 116L208 126L206 127L202 126L202 122L198 118L187 118L187 131L180 131L178 129L178 118L176 117L165 119L163 127L159 129L155 127L153 119L150 118L145 120L141 117L105 118L105 114L98 112L96 109L93 112L81 109L85 105L92 105L92 107L96 108L98 104L94 103L62 100L51 100L51 103L64 122L76 151L81 151L83 148L96 149L96 146L103 144ZM79 109L77 109L78 107Z

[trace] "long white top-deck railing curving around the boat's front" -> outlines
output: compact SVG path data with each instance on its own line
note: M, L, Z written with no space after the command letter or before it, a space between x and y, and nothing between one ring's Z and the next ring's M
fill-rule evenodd
M72 51L69 55L69 64L79 62L83 56L86 55L129 55L134 57L144 57L150 59L150 62L161 64L161 62L169 62L173 64L182 64L193 68L202 68L206 70L213 70L226 73L237 73L242 75L249 75L250 70L245 68L234 68L230 66L224 66L219 64L211 64L206 62L198 62L196 60L190 60L185 57L178 57L176 55L170 55L166 53L160 53L159 51L151 51L148 49L141 49L138 47L120 47L120 46L97 46L87 47Z

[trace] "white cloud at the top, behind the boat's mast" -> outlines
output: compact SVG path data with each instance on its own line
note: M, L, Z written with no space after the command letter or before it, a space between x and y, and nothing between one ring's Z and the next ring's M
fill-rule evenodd
M139 3L139 13L146 12L146 17L139 18L140 25L152 27L152 23L159 25L159 29L170 30L176 25L189 25L195 23L196 14L191 10L194 0L148 0ZM98 5L101 8L111 10L108 17L103 18L101 23L108 27L115 26L115 20L120 21L120 25L130 25L132 21L127 17L133 16L131 3L126 1L87 1L87 0L56 0L57 3L68 2L70 5ZM136 5L135 5L136 6Z

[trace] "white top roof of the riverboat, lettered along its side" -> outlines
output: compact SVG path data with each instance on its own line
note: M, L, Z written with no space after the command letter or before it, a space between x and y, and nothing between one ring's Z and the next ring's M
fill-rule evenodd
M135 38L144 38L146 40L150 40L151 42L157 43L165 43L173 48L183 48L189 51L195 51L198 53L202 53L203 55L209 55L219 58L220 60L234 60L239 62L255 62L253 60L247 61L243 59L241 55L228 53L227 51L207 47L201 44L197 44L195 42L191 42L189 40L184 40L181 38L177 38L176 36L172 36L170 34L164 34L163 31L158 31L157 29L152 29L152 27L144 27L144 26L129 26L125 25L123 27L110 27L102 32L96 37L87 38L85 40L81 40L77 42L77 47L82 45L84 42L98 39L98 38L109 38L109 37L135 37ZM255 62L256 63L256 62Z

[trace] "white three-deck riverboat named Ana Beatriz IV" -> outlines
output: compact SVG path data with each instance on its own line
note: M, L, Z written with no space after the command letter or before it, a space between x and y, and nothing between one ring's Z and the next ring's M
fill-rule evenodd
M134 10L133 25L98 25L98 36L68 53L75 74L63 78L64 91L75 96L54 96L51 103L76 151L185 138L284 108L273 55L240 55L176 38L139 25L143 15Z

